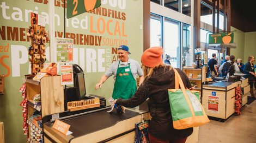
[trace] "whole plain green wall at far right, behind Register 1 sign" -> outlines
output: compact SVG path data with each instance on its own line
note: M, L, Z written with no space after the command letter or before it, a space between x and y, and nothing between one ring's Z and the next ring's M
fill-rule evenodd
M231 27L231 31L234 31L234 42L237 47L230 49L230 55L235 55L235 59L241 58L243 63L247 62L248 56L256 56L256 31L243 32L234 27Z

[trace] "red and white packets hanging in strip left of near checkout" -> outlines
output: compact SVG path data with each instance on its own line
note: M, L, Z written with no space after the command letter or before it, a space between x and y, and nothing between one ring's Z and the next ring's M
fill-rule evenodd
M23 131L24 134L27 135L28 138L28 123L27 123L27 114L28 114L28 110L27 110L27 92L26 92L26 83L23 83L19 92L21 92L21 97L23 98L23 100L20 103L20 106L22 107L22 116L23 116Z

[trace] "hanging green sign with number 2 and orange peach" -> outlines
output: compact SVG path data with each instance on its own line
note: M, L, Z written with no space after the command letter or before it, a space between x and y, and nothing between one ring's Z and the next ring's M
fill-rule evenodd
M84 12L100 7L101 0L69 0L66 9L66 18L80 15Z

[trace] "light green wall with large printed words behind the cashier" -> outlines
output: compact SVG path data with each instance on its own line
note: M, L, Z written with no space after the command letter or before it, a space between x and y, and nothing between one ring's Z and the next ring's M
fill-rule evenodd
M112 96L113 76L103 84L101 89L94 89L110 64L114 62L114 59L117 60L117 54L112 50L112 47L117 48L119 43L106 44L107 38L113 41L126 41L124 44L129 46L131 53L129 57L139 63L141 62L143 53L143 1L123 1L125 6L123 5L121 8L119 5L122 4L118 4L118 1L117 5L113 5L113 3L111 5L108 3L109 1L102 2L106 2L101 5L103 8L113 10L112 14L117 15L102 16L84 13L66 19L66 34L69 33L66 37L74 38L76 41L73 53L74 63L79 64L84 70L87 93L104 96L108 99ZM55 4L56 36L64 37L63 1L56 0ZM4 122L5 142L26 142L26 135L23 135L22 131L23 118L22 107L20 107L20 102L23 99L19 93L24 75L31 71L27 55L31 42L27 40L26 29L31 25L30 11L38 11L39 14L48 16L48 5L46 1L25 0L1 0L0 5L0 74L5 74L6 77L5 94L0 95L0 121ZM118 17L119 11L125 14L125 20ZM97 25L100 30L97 30ZM103 27L106 28L105 31L103 31ZM91 28L96 32L91 32ZM107 28L113 34L109 34ZM46 25L46 29L48 30L48 25ZM94 44L84 44L84 42L80 42L80 35L81 37L84 35L101 36L101 42L97 41L96 44L94 41ZM79 40L77 36L80 38ZM46 59L50 58L49 51L47 48Z

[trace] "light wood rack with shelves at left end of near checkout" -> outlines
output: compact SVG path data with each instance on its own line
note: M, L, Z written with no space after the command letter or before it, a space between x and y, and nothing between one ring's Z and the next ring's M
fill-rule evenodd
M41 142L42 121L48 114L64 112L64 90L60 76L42 77L40 82L26 79L28 142ZM41 101L33 101L40 94ZM39 114L34 116L35 111ZM32 117L33 115L33 117Z

